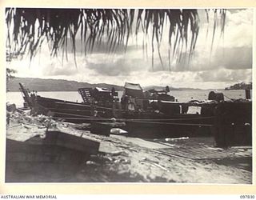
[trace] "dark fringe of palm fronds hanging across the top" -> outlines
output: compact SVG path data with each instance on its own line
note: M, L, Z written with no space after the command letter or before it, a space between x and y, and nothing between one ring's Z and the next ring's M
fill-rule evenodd
M223 32L226 10L220 14ZM51 56L58 56L62 50L62 56L67 57L70 39L75 58L78 33L85 53L102 42L107 44L108 52L114 52L118 46L126 50L130 36L143 31L143 45L150 42L153 66L154 49L162 62L160 45L165 28L169 29L169 59L181 54L184 45L192 54L198 38L198 21L198 10L7 8L7 57L29 52L31 59L44 40L50 46Z

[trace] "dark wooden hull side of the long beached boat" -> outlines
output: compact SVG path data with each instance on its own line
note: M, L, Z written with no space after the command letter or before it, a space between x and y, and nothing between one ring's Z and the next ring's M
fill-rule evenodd
M124 130L129 136L146 138L210 135L213 116L200 114L163 114L154 111L128 112L78 102L37 97L38 112L66 122L109 122L118 113L120 122L126 122ZM176 103L174 106L177 106ZM97 117L94 116L97 112ZM206 125L206 126L205 126ZM106 130L108 131L108 130Z

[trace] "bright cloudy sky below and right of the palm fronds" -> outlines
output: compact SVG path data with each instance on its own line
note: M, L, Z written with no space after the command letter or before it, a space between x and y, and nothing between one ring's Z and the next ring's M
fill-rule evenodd
M252 81L253 10L227 10L223 37L220 27L216 30L211 51L213 18L206 22L204 10L198 10L200 29L198 41L190 62L183 56L180 62L168 64L168 42L163 37L161 56L154 54L151 64L151 50L142 50L142 33L130 38L126 54L106 54L100 46L93 54L80 52L77 41L77 66L69 50L68 61L62 57L50 58L46 45L32 62L29 57L13 60L7 67L17 70L17 77L55 78L78 82L106 82L123 86L125 82L140 83L142 86L194 87L200 89L224 88L237 82ZM208 29L207 29L208 27ZM167 29L166 29L167 30ZM208 34L206 34L208 32ZM167 31L166 31L167 33ZM165 36L165 34L163 35ZM183 55L186 55L184 52Z

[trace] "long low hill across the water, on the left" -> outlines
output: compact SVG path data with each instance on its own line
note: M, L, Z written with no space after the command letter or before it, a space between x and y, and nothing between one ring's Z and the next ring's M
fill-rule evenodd
M111 90L123 90L123 86L110 85L106 83L90 84L88 82L75 82L62 79L42 78L11 78L7 88L10 91L19 91L18 83L22 82L30 90L36 91L77 91L80 87L106 87Z

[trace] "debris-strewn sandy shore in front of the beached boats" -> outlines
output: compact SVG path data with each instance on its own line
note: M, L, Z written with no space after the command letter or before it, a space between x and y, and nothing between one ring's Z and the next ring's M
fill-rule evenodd
M75 171L69 169L71 165L66 166L65 170L50 168L52 175L46 176L46 169L41 168L42 173L38 174L38 169L30 163L30 167L6 174L6 177L13 178L13 182L252 183L252 171L248 167L233 160L225 160L232 155L234 159L247 159L245 163L250 165L251 146L216 149L214 138L211 137L166 141L130 138L119 134L91 134L90 124L55 121L45 115L32 116L16 110L11 110L7 117L7 139L22 142L45 134L47 130L100 143L98 153L90 154Z

